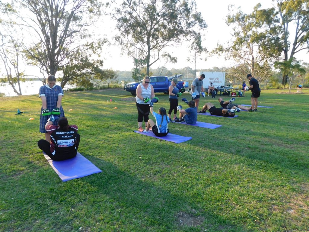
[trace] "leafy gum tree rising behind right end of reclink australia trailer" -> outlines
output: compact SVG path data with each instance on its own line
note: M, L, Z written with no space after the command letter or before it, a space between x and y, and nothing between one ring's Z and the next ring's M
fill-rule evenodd
M235 74L239 80L251 73L256 79L262 81L271 75L271 67L274 59L266 56L256 40L257 29L255 18L251 14L245 14L241 10L233 14L232 6L227 15L226 24L232 26L232 40L227 45L218 45L212 52L223 54L225 59L234 61Z

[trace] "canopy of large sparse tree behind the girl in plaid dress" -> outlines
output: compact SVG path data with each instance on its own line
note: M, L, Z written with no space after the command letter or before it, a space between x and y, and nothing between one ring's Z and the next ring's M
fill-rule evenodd
M96 0L13 0L12 25L28 35L24 53L42 73L55 75L78 49L95 46L88 28L101 14ZM91 41L91 42L89 42ZM44 80L45 82L45 80Z

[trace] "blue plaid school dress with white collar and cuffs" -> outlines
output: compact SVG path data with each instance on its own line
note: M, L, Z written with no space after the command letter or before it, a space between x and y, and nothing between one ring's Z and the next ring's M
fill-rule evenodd
M47 109L49 111L52 111L57 107L57 101L58 101L58 96L63 94L62 88L59 85L54 85L53 88L50 88L48 84L45 84L40 87L40 92L39 92L39 97L45 96L46 97L46 102L47 102ZM43 111L43 106L41 107L41 112ZM41 133L47 133L45 130L45 124L47 122L47 119L50 117L50 115L47 116L42 116L40 113L40 132ZM62 105L60 106L60 115L59 117L64 117L64 111L62 108ZM55 126L58 125L57 122L54 122Z

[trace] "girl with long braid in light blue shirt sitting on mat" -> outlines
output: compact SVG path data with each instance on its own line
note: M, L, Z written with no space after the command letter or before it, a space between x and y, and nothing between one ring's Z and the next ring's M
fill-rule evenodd
M151 102L149 106L150 106L151 114L155 117L155 122L152 121L151 119L148 119L146 130L144 132L148 133L151 127L151 130L155 134L155 136L162 137L162 136L167 135L169 120L167 118L165 108L160 107L159 114L157 114L153 110L153 107L154 107L153 102Z

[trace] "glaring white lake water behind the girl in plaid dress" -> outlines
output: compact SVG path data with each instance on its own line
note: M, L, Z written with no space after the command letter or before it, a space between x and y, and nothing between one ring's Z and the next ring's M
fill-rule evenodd
M58 83L56 83L58 84ZM40 87L42 86L42 82L35 81L25 81L21 82L21 93L22 95L31 95L31 94L39 94ZM69 86L65 86L64 89L67 89ZM18 86L15 86L16 90L18 90ZM0 85L0 93L4 93L6 97L18 96L14 91L10 84L1 83Z

